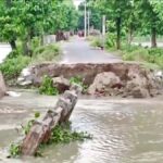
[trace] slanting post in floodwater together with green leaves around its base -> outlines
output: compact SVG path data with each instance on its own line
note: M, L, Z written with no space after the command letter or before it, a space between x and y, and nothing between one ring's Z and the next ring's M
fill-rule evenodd
M24 139L21 143L12 145L10 154L35 155L42 145L70 142L74 140L84 140L90 138L88 134L76 133L71 130L68 123L70 116L77 102L77 97L82 88L73 85L60 97L53 110L49 110L41 121L37 121L39 113L35 114L35 118L23 126Z

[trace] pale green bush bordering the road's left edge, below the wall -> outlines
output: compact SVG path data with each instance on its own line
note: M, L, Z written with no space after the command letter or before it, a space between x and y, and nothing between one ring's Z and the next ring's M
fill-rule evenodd
M61 50L57 45L36 48L33 54L34 62L55 61Z

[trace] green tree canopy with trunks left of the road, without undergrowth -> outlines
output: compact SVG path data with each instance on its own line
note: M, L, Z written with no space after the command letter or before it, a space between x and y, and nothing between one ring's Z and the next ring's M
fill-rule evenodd
M78 13L72 0L0 1L0 39L17 49L21 41L25 55L33 55L33 41L42 46L45 35L74 30Z

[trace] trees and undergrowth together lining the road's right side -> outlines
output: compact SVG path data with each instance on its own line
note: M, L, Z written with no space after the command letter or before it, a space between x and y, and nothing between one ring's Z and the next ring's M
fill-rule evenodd
M163 35L163 2L156 0L88 0L90 26L101 30L102 15L106 17L106 37L89 37L93 47L104 47L109 51L122 54L124 60L140 61L163 67L163 48L158 47L158 39ZM84 12L84 3L79 11ZM96 14L95 14L96 13ZM80 16L80 24L84 17ZM84 26L79 26L84 28ZM140 38L150 38L150 48L135 46ZM163 39L161 39L163 41ZM104 43L103 43L104 42Z

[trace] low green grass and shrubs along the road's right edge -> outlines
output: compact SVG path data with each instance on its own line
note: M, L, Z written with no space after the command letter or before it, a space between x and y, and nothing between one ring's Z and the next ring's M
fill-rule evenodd
M91 46L99 47L102 41L97 37L88 39ZM137 61L148 68L163 68L163 48L143 48L140 46L128 45L123 41L121 50L115 48L115 36L109 34L105 38L105 49L121 55L124 61Z

